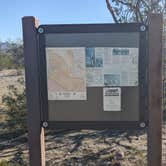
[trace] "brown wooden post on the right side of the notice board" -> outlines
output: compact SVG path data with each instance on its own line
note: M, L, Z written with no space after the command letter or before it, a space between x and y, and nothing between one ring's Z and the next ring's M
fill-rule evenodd
M149 16L148 166L162 165L162 16Z

